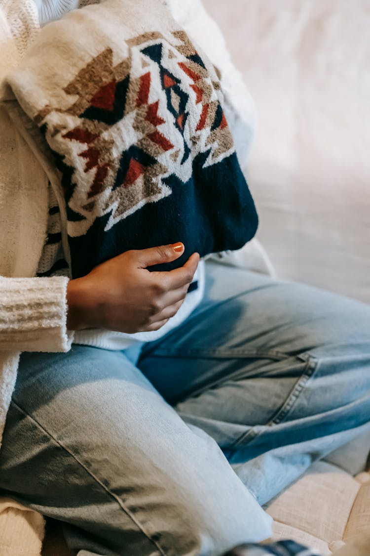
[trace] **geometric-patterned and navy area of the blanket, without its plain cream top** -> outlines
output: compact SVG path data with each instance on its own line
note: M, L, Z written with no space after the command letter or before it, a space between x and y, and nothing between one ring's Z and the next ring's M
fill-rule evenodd
M169 270L239 249L257 228L214 67L181 30L126 44L128 57L107 47L75 73L67 108L50 98L34 118L62 172L73 277L182 241Z

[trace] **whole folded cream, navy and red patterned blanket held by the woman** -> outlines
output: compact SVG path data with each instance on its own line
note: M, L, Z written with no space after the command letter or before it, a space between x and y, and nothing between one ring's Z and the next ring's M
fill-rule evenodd
M7 83L9 115L62 183L73 277L129 249L182 241L170 269L254 236L219 78L163 0L107 0L48 24Z

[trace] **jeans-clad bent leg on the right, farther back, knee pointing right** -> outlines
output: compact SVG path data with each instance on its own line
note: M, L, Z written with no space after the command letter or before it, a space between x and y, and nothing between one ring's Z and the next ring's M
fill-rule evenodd
M145 345L138 366L265 503L313 460L370 430L370 307L206 266L202 304Z

